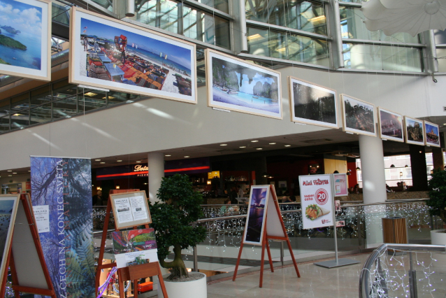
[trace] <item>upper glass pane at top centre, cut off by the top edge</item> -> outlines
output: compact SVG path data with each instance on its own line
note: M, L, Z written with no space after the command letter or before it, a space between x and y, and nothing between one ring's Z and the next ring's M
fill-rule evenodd
M246 19L326 35L324 5L297 0L247 0Z

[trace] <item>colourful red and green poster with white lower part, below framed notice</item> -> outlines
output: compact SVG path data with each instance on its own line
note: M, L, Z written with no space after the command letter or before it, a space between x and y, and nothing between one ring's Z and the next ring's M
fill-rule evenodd
M132 229L112 233L117 268L157 262L154 229Z

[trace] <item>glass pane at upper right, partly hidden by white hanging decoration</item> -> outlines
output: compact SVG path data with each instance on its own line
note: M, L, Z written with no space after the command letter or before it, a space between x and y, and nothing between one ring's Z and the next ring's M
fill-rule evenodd
M385 35L381 30L368 31L364 24L364 14L360 8L339 6L340 30L343 38L365 39L370 41L393 41L401 43L419 43L419 36L411 36L408 33L396 33Z

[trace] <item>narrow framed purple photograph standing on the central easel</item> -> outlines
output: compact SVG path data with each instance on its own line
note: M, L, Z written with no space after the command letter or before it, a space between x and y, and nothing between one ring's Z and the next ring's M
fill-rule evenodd
M266 211L268 210L269 185L252 185L248 203L243 243L261 246L264 239Z

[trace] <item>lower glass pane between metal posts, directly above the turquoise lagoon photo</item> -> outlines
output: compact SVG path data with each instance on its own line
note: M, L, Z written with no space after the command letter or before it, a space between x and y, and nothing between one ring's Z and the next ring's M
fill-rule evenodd
M329 66L326 41L252 27L247 29L247 41L252 55Z

